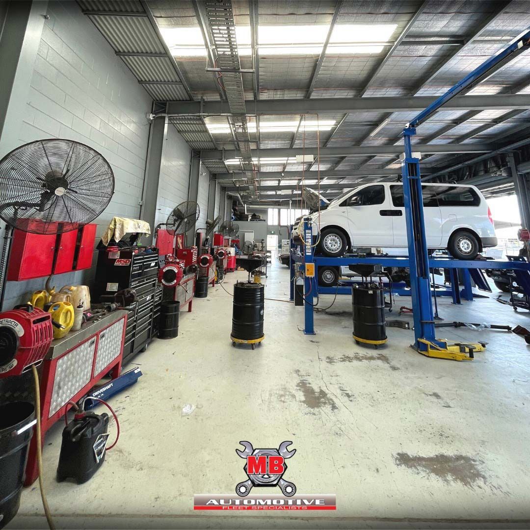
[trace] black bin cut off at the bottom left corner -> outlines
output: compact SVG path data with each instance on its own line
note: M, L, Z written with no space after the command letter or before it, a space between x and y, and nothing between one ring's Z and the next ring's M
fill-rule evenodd
M25 401L0 406L0 528L19 511L35 407Z

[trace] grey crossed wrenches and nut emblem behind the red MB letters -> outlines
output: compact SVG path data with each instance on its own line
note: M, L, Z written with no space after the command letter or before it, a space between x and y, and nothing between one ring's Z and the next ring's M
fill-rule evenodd
M282 479L282 476L284 475L285 471L287 470L287 464L285 464L285 460L287 458L290 458L296 453L296 449L293 449L293 451L288 451L287 447L291 445L292 441L282 441L278 449L254 449L252 447L252 444L250 441L240 441L240 444L245 448L244 451L241 451L241 449L236 449L235 452L238 454L238 456L241 456L241 458L247 459L248 456L282 456L284 457L284 471L282 471L279 474L273 474L273 473L261 473L261 474L255 474L248 472L247 464L243 467L245 470L246 475L248 476L248 480L245 480L244 482L240 482L237 484L235 491L240 497L245 497L250 493L250 490L253 486L258 487L273 487L278 486L281 489L281 492L286 497L292 497L296 493L296 486L292 482L287 482L286 480Z

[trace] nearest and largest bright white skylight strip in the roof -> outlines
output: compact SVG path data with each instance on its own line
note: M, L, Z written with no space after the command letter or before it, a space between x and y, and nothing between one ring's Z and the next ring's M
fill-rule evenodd
M337 24L328 45L329 54L379 54L389 46L397 24ZM318 55L329 25L260 25L258 50L268 55ZM202 33L196 28L161 28L175 57L206 57ZM235 28L240 56L252 55L248 25Z

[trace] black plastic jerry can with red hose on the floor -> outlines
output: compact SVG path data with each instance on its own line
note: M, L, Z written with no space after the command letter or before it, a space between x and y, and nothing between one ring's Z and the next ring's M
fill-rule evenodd
M63 429L57 482L70 479L83 484L100 469L107 454L109 415L85 412Z

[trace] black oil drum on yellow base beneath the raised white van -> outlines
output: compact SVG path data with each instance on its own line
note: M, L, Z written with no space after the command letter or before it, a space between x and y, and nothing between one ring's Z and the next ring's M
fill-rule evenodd
M385 297L379 286L352 286L354 339L377 347L386 342Z

